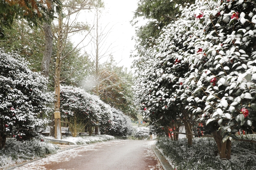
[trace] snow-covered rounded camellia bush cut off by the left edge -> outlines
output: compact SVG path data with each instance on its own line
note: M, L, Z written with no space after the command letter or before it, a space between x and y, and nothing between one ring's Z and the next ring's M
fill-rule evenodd
M18 54L0 50L0 149L6 137L28 140L47 122L40 117L51 102L47 79L32 72Z

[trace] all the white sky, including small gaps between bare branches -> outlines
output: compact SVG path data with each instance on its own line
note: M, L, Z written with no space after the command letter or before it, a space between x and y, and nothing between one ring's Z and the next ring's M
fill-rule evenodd
M105 30L109 31L111 29L111 33L106 40L106 46L113 43L110 47L113 53L109 54L113 55L118 66L124 66L128 68L128 70L131 70L130 67L134 60L130 55L131 51L135 49L135 41L131 40L135 35L135 27L131 26L130 21L134 16L134 11L137 9L137 2L138 0L104 0L105 14L100 18L102 28L108 26ZM84 14L79 15L79 21L87 22L92 26L94 17L92 11L86 10ZM145 22L142 20L140 25L144 23ZM79 36L80 35L75 35L72 38L75 44L79 42L79 39L81 40L82 37ZM87 44L86 41L83 45L85 44ZM89 54L90 51L92 51L92 46L88 45L83 50ZM104 62L104 59L102 60Z

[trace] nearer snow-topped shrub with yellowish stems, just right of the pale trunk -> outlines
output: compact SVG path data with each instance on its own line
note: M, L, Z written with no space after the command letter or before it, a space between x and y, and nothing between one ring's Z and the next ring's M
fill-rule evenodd
M108 106L98 96L73 86L61 86L60 89L61 116L67 118L74 137L85 126L104 128L109 124Z

